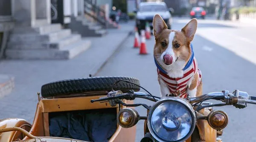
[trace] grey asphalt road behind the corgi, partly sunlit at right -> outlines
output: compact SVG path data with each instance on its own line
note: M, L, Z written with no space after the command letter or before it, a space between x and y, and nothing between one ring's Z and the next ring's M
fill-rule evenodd
M181 30L189 19L174 19L173 29ZM216 20L198 20L198 31L193 40L195 57L202 71L203 93L235 89L256 96L256 27ZM156 66L153 60L154 39L146 41L148 55L139 55L133 48L134 37L119 48L98 76L130 76L140 79L141 85L159 96ZM143 91L143 90L141 90ZM136 99L139 103L142 99ZM152 104L143 100L144 103ZM215 107L229 115L229 124L221 136L224 142L256 141L256 105L237 109L233 106ZM137 107L141 116L145 108ZM143 121L137 124L137 142L143 137Z

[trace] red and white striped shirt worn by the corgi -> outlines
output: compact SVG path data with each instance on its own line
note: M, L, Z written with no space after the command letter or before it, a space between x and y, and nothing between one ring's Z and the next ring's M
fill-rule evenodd
M157 68L158 76L166 83L172 94L178 93L180 91L180 95L178 97L186 98L186 90L188 86L188 81L194 74L198 74L198 85L201 81L201 71L198 69L197 61L194 57L192 64L184 70L183 77L181 78L171 78L167 74L163 73Z

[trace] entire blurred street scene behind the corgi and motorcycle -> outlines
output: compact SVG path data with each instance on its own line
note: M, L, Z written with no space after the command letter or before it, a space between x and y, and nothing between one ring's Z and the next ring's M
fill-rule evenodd
M154 14L175 30L198 19L192 43L203 93L239 89L255 95L256 0L0 0L0 119L32 123L41 86L71 78L137 77L159 96L154 37L141 51L143 37L135 34L152 32ZM256 141L254 107L217 108L230 118L224 142ZM142 137L139 122L137 141Z

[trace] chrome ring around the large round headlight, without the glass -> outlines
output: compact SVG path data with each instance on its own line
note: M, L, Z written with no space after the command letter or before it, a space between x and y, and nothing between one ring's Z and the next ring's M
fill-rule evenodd
M159 142L170 142L170 141L166 141L166 140L160 138L159 136L157 136L157 134L154 132L154 129L151 126L151 117L152 117L152 114L153 114L154 110L159 105L163 104L164 102L170 102L170 101L176 101L176 102L179 102L182 105L184 105L189 110L189 113L190 113L190 115L192 117L192 125L191 125L191 128L189 130L189 133L187 133L187 135L184 136L182 139L179 139L179 140L176 140L176 141L171 141L171 142L183 142L183 141L186 141L186 139L188 139L192 135L193 131L195 130L196 114L195 114L195 111L194 111L193 107L189 104L189 102L186 101L183 98L180 98L180 97L164 97L164 98L158 100L151 107L151 109L148 112L148 119L147 119L148 130L151 133L151 135L154 137L154 139L156 139L157 141L159 141Z

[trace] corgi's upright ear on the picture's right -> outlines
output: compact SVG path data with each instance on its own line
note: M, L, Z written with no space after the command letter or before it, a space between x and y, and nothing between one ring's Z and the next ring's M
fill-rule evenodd
M186 24L184 28L182 28L182 32L185 34L189 41L192 41L195 36L195 31L197 29L197 20L193 18Z

